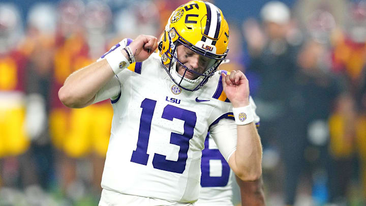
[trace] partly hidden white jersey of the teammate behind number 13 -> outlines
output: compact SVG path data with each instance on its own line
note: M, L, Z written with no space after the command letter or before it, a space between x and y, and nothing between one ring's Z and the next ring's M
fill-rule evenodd
M250 103L254 112L254 122L259 127L259 116L255 110L252 97ZM232 202L232 175L233 171L221 155L214 139L208 133L202 151L201 160L201 189L196 206L233 206Z

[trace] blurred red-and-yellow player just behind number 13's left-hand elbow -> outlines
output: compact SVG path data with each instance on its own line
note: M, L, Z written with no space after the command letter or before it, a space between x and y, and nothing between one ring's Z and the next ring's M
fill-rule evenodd
M76 163L65 155L65 141L70 132L70 109L58 101L57 91L66 77L81 64L87 64L87 45L83 37L82 13L85 5L81 1L62 1L57 7L56 46L53 60L51 85L51 108L49 126L52 143L57 150L56 174L62 195L76 181ZM77 64L77 65L75 65ZM83 188L80 189L83 193ZM76 193L79 194L79 193ZM70 198L70 197L69 197Z

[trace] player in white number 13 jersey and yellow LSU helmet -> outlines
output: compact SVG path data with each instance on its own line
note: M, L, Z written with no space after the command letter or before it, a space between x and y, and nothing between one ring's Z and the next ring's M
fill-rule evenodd
M99 205L193 205L207 131L241 180L259 179L248 79L216 72L228 41L221 10L191 1L172 13L161 42L125 39L66 79L58 92L65 105L113 105Z

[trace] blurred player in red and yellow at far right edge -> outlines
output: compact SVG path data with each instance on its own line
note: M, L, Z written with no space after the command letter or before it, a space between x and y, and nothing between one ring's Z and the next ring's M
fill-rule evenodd
M347 23L344 24L343 30L332 39L331 63L332 71L342 75L346 80L349 96L348 99L340 102L330 119L330 149L333 164L339 168L334 171L335 176L332 179L333 184L330 191L332 200L341 199L349 202L346 194L358 174L355 174L354 170L345 168L356 168L354 166L355 152L359 153L360 176L362 179L365 176L363 155L365 145L362 143L364 133L361 124L364 118L362 93L366 72L366 1L350 1L345 9ZM349 114L346 118L345 112ZM350 114L353 115L350 116ZM363 193L365 193L364 189ZM363 201L364 199L365 196L363 196Z

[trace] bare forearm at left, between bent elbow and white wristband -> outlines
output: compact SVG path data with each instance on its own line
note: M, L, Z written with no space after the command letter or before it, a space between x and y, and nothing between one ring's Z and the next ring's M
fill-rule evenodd
M113 75L106 60L93 63L71 74L58 91L58 98L65 106L85 107L93 102L97 92Z

